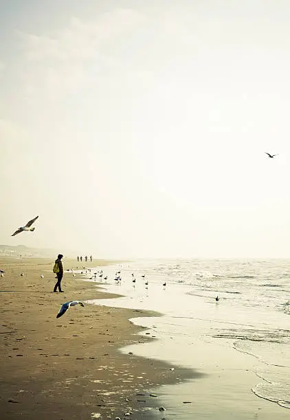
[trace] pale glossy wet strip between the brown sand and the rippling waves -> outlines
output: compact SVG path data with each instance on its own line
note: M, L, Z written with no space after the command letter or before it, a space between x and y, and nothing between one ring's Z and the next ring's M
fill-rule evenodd
M104 272L112 278L114 270L116 267L111 271L108 267ZM139 279L140 274L146 273L150 285L148 290L144 287L142 279L132 284L132 271L139 273ZM173 366L178 366L178 369L184 366L202 373L193 380L181 380L172 385L155 388L155 393L160 396L161 405L166 408L163 417L286 419L289 415L287 406L281 406L279 402L276 404L274 399L258 398L254 393L254 388L267 384L267 363L265 364L263 358L256 358L255 352L250 354L238 351L234 342L239 339L240 334L243 337L248 329L249 334L253 334L253 331L256 331L258 336L265 334L264 331L269 329L265 325L265 315L268 316L269 322L271 320L274 331L276 326L283 326L287 331L287 318L283 318L279 312L258 313L255 309L248 311L243 305L232 305L232 301L227 299L217 305L214 300L216 294L188 294L188 285L183 288L176 278L175 283L168 281L168 288L165 290L161 288L163 281L162 276L158 277L155 271L150 271L150 268L144 268L143 265L136 265L134 268L123 267L122 284L110 283L104 287L106 291L119 293L124 297L108 303L105 300L101 301L103 305L137 307L144 311L159 310L163 314L157 318L134 317L133 323L146 328L148 333L152 337L157 336L158 340L146 342L142 346L130 345L122 351L132 351L140 357L161 359L162 362L165 360ZM258 317L255 318L255 315ZM146 329L141 333L142 336L148 334ZM271 334L271 329L269 332ZM250 338L251 335L249 342ZM263 371L265 375L258 375ZM285 381L285 373L281 377L281 383L283 378ZM287 388L285 391L285 397L282 395L281 401L288 401Z

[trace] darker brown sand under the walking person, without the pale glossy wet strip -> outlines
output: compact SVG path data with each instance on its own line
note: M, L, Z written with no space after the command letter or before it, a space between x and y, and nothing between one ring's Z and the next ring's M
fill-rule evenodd
M96 267L106 261L82 264ZM179 369L177 374L166 363L118 351L150 340L138 336L140 327L129 322L148 312L86 304L57 319L66 301L113 295L71 272L64 275L65 293L53 293L53 265L54 259L0 258L5 270L0 277L1 419L149 419L159 407L150 389L194 373ZM65 270L76 265L64 261ZM124 416L129 411L132 415Z

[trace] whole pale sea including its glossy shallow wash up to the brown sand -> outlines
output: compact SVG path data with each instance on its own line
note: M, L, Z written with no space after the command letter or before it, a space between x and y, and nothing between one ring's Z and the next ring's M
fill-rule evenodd
M206 375L159 388L160 405L168 407L161 417L289 417L289 267L289 260L162 260L102 268L104 288L124 297L98 304L164 314L134 318L148 327L142 334L158 340L123 351ZM121 281L114 280L118 276Z

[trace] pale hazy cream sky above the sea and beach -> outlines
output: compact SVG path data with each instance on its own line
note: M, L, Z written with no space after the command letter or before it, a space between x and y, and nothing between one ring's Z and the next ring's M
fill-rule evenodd
M0 243L289 257L289 19L287 0L0 0Z

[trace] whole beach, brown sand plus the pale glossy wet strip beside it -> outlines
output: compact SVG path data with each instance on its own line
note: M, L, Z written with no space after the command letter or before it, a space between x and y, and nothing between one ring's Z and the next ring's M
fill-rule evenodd
M85 266L102 266L113 279L120 264L112 263ZM85 270L76 277L67 271L77 265L80 269L75 260L64 260L65 292L60 294L52 292L54 259L0 259L5 270L0 277L1 419L287 419L286 408L252 392L263 383L257 373L269 371L268 365L248 351L236 351L232 329L223 340L214 338L219 325L234 322L232 298L216 306L182 294L179 283L164 290L150 270L150 290L144 289L141 272L133 288L132 264L122 266L122 285L84 281ZM56 318L60 305L74 299L85 307L71 307ZM180 305L185 318L176 316ZM241 308L234 309L239 323L234 328L249 323ZM267 323L271 314L263 316ZM276 319L282 328L283 315Z

